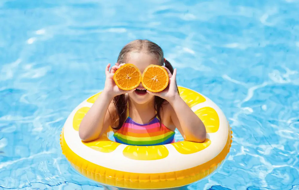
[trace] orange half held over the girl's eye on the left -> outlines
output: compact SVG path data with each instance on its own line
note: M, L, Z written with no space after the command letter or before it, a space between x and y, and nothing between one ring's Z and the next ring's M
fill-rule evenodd
M122 90L132 90L141 82L141 72L133 64L124 64L116 70L113 80L118 88Z

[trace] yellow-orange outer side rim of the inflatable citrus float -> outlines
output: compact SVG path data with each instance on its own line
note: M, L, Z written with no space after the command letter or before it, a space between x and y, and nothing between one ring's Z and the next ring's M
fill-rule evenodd
M190 104L193 103L190 102ZM108 138L104 138L108 140ZM201 165L179 171L164 173L133 173L109 169L78 156L66 143L63 130L60 135L60 145L63 155L65 155L67 160L80 174L101 184L128 189L165 189L194 183L208 176L221 165L230 151L231 143L232 131L228 124L226 144L222 151L211 160Z

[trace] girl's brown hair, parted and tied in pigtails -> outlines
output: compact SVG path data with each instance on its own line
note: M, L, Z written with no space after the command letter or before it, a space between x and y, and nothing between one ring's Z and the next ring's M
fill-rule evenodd
M169 69L171 74L173 74L173 67L169 61L164 59L164 54L163 54L163 50L161 49L161 47L158 46L156 43L149 41L149 40L134 40L134 41L131 41L129 44L126 44L118 55L117 63L125 63L126 56L128 55L128 53L141 52L141 51L147 52L147 53L155 56L157 58L158 64L161 66L163 64L165 64L164 66L167 67L167 69ZM179 90L178 90L178 93L179 93ZM162 104L164 101L165 101L165 99L155 96L154 105L155 105L155 110L157 112L155 117L161 118L160 110L162 108ZM118 130L121 128L121 126L123 125L123 123L125 122L125 119L126 119L125 95L122 94L122 95L115 96L113 99L113 102L114 102L114 105L116 108L115 116L117 116L113 120L114 121L118 120L118 126L113 127L113 129ZM160 119L160 126L161 126L161 119Z

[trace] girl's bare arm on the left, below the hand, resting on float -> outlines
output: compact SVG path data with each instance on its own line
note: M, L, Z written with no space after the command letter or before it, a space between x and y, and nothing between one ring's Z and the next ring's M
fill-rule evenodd
M111 125L109 112L114 112L113 97L103 91L95 103L84 116L79 127L79 136L83 141L92 141L99 138Z

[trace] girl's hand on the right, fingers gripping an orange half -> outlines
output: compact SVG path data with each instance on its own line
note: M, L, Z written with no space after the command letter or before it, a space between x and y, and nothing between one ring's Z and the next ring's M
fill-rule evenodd
M147 92L151 95L159 96L169 102L173 100L176 96L179 96L177 91L178 89L176 87L176 69L174 69L173 74L171 74L171 72L169 71L169 69L167 69L167 67L165 66L162 67L167 71L169 76L168 86L161 92L150 92L149 90L147 90Z

